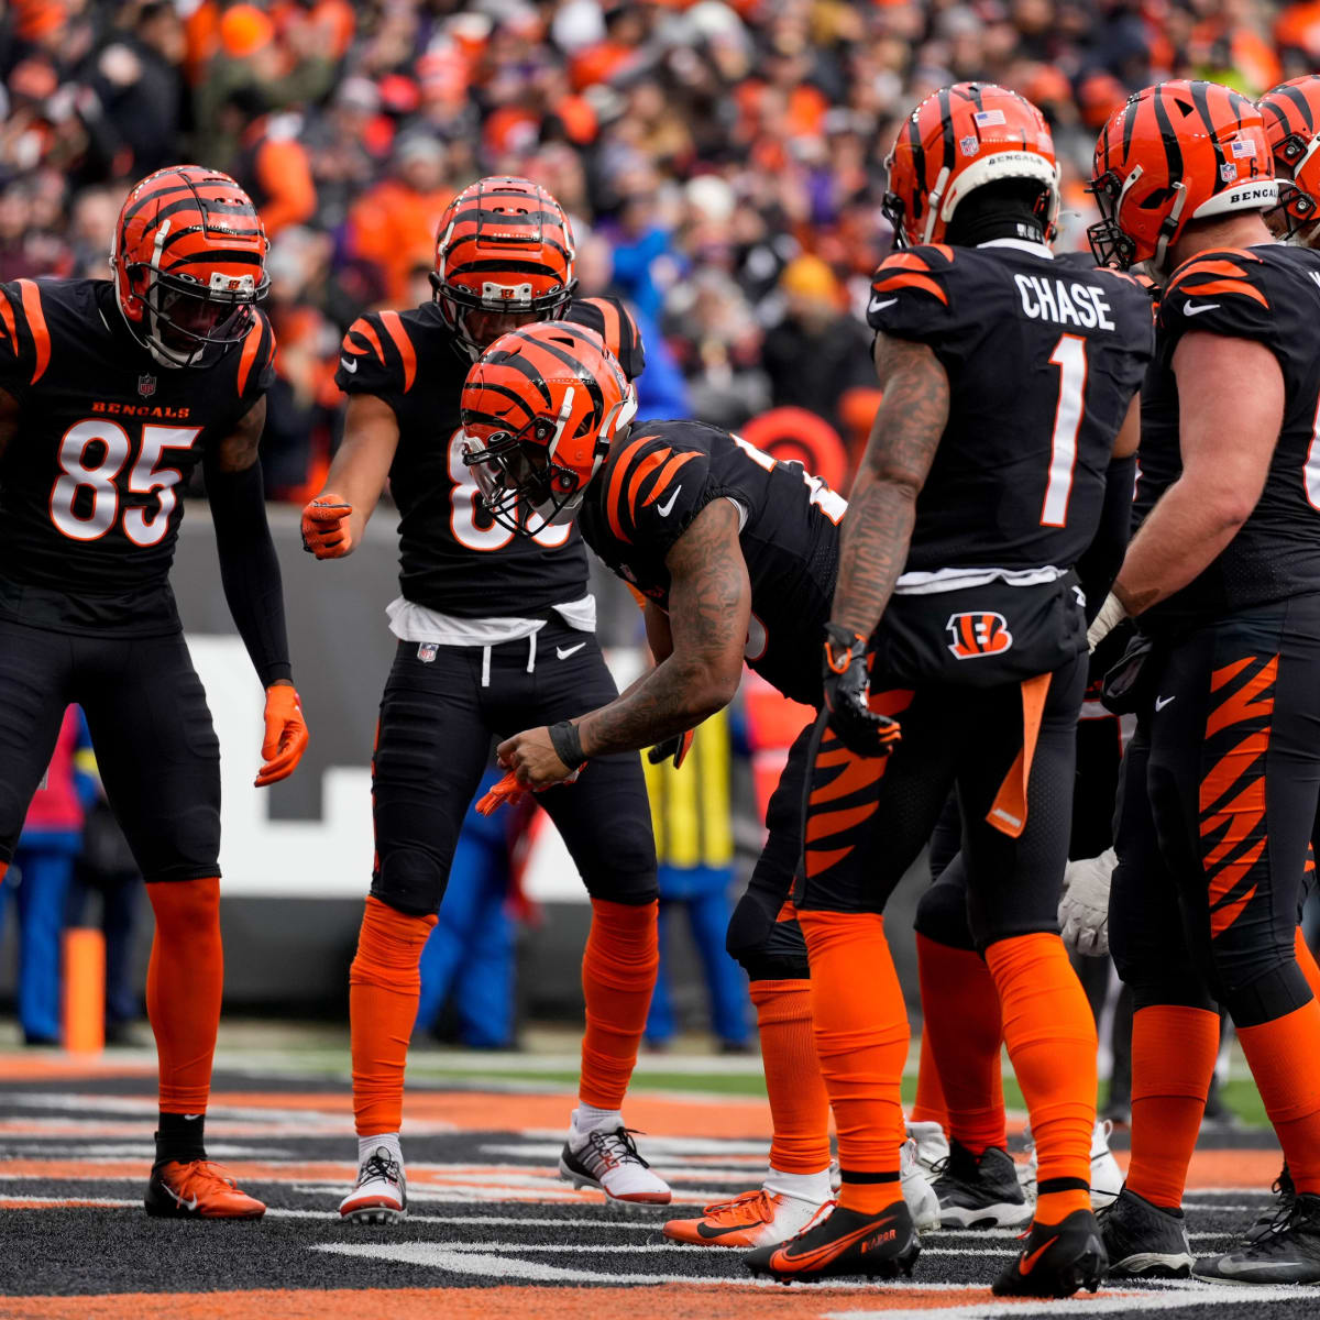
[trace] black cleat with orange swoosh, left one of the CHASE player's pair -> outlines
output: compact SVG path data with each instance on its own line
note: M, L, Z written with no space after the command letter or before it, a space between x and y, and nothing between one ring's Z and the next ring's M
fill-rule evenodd
M896 1201L880 1214L861 1214L842 1205L817 1218L787 1242L758 1247L743 1257L752 1274L780 1283L818 1279L892 1279L911 1275L921 1251L912 1213Z

